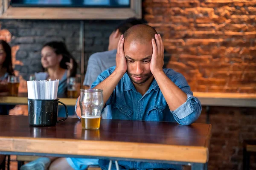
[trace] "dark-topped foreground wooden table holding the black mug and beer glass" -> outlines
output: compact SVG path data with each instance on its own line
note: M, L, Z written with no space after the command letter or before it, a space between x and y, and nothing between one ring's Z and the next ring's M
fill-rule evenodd
M102 119L83 130L76 118L55 127L30 127L26 116L0 115L0 154L90 157L189 164L207 169L211 125Z

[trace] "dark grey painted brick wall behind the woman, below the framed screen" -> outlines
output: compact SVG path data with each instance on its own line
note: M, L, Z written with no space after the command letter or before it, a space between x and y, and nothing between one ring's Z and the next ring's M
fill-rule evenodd
M84 21L85 37L85 71L91 54L108 49L108 37L120 21ZM79 20L0 20L0 30L11 34L9 43L17 47L13 56L15 70L24 79L41 70L41 48L44 43L57 40L64 41L69 51L79 63ZM5 39L2 37L2 39Z

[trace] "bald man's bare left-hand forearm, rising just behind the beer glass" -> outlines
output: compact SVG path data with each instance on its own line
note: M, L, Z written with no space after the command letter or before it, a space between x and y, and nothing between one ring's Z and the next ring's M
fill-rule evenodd
M119 73L118 71L113 71L113 73L106 78L104 81L99 83L99 85L96 85L93 89L102 89L103 90L103 99L104 99L104 105L108 101L109 97L113 93L114 89L116 88L116 85L122 78L123 74Z

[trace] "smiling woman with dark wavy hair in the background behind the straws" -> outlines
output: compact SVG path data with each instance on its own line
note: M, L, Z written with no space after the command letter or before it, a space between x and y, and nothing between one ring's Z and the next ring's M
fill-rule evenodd
M36 80L59 79L58 94L66 94L67 78L76 77L77 63L63 42L48 42L41 50L45 72L35 73Z

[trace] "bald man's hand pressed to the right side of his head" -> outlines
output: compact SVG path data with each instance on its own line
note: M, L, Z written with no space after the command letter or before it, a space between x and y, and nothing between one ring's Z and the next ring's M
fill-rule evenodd
M152 38L153 54L151 57L150 71L154 75L157 71L163 71L163 40L160 34L155 34L155 39Z

